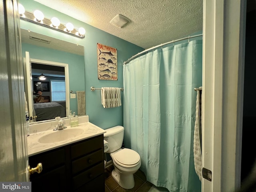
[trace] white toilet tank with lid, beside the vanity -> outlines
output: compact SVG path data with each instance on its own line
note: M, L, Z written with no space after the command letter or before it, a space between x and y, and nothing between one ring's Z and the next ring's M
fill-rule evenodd
M107 153L112 153L122 147L124 139L124 127L115 126L105 130L104 140L109 143L109 150Z

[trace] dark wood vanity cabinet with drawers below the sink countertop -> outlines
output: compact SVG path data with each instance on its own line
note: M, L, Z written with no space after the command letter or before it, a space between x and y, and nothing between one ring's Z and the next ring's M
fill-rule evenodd
M103 134L29 157L32 192L90 192L105 190Z

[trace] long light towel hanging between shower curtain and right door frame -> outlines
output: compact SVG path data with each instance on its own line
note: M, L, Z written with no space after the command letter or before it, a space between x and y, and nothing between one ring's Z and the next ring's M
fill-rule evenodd
M196 97L196 121L195 121L195 129L194 129L194 165L196 174L198 175L200 181L202 181L202 150L201 150L201 142L202 142L202 91L197 91Z

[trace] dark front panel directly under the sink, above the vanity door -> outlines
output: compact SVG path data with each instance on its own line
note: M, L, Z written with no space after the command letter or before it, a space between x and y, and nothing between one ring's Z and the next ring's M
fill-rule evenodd
M42 173L65 164L65 149L60 148L29 157L30 167L36 167L38 163L42 163Z

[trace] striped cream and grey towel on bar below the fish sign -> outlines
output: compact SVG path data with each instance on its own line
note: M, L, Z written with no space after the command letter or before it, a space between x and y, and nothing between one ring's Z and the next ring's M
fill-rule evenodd
M102 87L101 103L104 108L113 108L121 106L120 88Z

